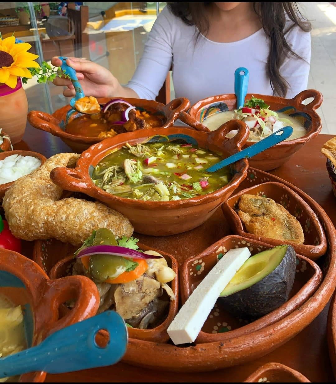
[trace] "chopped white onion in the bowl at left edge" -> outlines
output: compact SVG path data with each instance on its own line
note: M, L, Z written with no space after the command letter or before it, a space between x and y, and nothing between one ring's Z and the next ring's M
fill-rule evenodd
M41 165L41 160L33 156L10 155L0 160L0 184L9 183L28 175Z

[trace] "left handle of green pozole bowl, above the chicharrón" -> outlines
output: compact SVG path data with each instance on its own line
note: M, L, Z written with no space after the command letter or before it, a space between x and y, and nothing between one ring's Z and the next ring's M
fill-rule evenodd
M73 168L56 167L50 172L50 179L63 190L85 193L91 197L92 188L82 174Z

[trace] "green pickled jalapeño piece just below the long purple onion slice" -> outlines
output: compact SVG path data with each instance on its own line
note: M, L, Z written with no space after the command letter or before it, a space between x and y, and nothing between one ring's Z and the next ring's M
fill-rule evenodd
M127 260L115 255L93 255L89 261L89 273L93 280L103 283L115 279L127 269Z

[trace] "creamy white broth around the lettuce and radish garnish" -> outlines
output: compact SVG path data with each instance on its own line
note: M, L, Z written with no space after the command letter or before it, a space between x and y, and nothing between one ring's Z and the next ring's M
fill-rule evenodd
M225 111L225 112L219 112L215 113L205 120L202 121L202 124L204 124L206 127L210 129L210 131L215 131L217 128L219 128L222 124L225 122L232 120L233 115L235 114L235 111ZM304 136L307 131L304 128L304 126L299 122L298 119L293 118L291 116L288 116L285 113L277 112L279 119L287 119L291 121L291 126L293 127L293 133L291 136L288 137L285 141L297 139L298 137ZM284 123L284 126L288 125L287 123ZM229 132L226 137L233 137L235 136L236 131ZM264 138L264 137L263 137ZM249 141L257 141L252 138L249 138Z

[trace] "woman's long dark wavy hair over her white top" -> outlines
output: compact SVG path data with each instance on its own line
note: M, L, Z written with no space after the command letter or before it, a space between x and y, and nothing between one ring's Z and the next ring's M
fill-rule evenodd
M203 3L167 3L171 12L179 17L187 25L195 25L204 36L209 31L209 20L206 17L205 9L211 2ZM303 60L288 45L285 34L294 26L298 25L305 32L311 31L311 23L303 17L298 9L298 3L253 3L254 12L259 16L266 36L270 39L270 50L267 59L267 75L274 94L285 97L288 91L288 82L281 76L280 67L286 57L294 56ZM287 30L286 15L293 22Z

